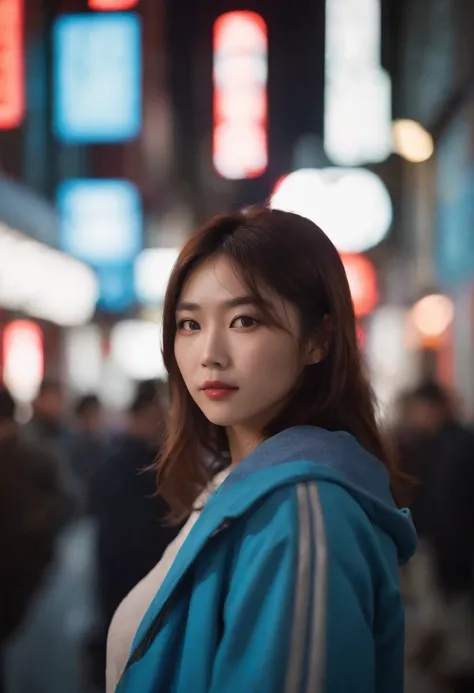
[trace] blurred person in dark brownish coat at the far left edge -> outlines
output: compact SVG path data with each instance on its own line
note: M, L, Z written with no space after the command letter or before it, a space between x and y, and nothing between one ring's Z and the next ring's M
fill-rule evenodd
M0 652L53 560L62 508L54 457L20 438L14 413L13 398L0 389Z

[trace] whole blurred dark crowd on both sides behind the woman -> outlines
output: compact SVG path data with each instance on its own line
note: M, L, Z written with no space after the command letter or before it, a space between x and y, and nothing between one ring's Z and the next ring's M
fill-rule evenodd
M121 425L94 395L44 381L28 423L0 390L1 693L101 693L118 605L179 527L156 492L160 382ZM474 430L436 382L403 393L389 432L419 536L402 573L407 692L474 691Z

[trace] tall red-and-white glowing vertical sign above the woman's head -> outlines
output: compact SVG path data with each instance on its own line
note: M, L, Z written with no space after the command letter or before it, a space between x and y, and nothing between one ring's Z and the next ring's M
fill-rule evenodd
M214 24L213 162L224 178L256 178L267 152L267 27L255 12Z

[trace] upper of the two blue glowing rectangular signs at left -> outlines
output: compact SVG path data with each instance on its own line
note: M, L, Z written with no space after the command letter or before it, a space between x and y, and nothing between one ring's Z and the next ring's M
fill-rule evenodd
M141 128L141 24L133 13L54 24L54 130L71 143L120 142Z

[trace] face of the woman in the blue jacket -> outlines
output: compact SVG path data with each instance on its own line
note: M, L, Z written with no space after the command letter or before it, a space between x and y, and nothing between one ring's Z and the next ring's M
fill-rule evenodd
M203 262L184 284L175 357L191 397L209 421L261 433L315 350L302 348L297 309L262 288L285 327L269 325L224 255Z

